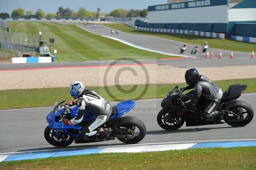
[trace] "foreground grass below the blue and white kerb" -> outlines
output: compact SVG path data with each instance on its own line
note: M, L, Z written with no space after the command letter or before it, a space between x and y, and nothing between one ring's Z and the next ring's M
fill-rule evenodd
M1 162L0 169L255 169L256 147L102 153Z

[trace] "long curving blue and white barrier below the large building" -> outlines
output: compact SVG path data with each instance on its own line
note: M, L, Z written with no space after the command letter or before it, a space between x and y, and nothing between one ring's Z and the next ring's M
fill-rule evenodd
M112 21L114 22L114 21ZM176 34L190 34L190 35L199 35L199 36L206 36L206 37L214 37L214 38L225 38L225 34L220 33L211 33L211 32L203 32L203 31L191 31L191 30L180 30L180 29L162 29L162 28L144 28L144 27L137 27L128 23L125 25L129 27L133 27L135 29L141 31L149 31L149 32L160 32L160 33L176 33Z

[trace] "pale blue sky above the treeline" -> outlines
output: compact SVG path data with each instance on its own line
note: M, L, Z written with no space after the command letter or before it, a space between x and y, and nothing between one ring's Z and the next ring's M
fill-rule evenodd
M87 11L97 11L109 13L116 8L144 9L150 5L166 4L167 0L0 0L0 13L12 13L14 9L23 8L26 11L36 12L41 9L45 14L56 13L57 9L62 6L68 7L73 11L78 11L80 7Z

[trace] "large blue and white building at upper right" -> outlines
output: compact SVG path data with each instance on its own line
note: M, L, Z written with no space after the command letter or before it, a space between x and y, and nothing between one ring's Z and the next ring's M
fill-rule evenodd
M148 6L148 22L136 20L134 25L256 37L256 0L167 2Z

